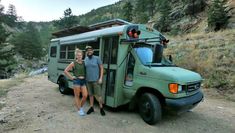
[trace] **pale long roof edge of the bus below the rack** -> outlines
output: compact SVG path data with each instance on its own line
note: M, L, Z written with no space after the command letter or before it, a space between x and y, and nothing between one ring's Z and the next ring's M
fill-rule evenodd
M127 25L109 27L109 28L104 28L100 30L71 35L67 37L55 38L55 39L52 39L51 41L60 41L61 45L95 41L101 36L115 35L120 32L123 32L126 26Z

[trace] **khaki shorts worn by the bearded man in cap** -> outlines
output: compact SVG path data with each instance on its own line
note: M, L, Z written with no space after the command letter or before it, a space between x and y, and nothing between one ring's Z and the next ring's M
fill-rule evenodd
M101 97L101 85L98 84L97 82L87 82L87 89L88 89L88 93L89 96L97 96L97 97Z

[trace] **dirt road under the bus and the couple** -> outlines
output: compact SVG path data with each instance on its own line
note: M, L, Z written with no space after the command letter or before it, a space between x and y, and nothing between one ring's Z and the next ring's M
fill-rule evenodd
M154 126L124 110L106 110L102 117L96 107L94 114L80 117L73 96L60 94L45 75L25 79L0 102L6 104L0 110L0 133L235 133L235 102L210 97L192 112L164 115Z

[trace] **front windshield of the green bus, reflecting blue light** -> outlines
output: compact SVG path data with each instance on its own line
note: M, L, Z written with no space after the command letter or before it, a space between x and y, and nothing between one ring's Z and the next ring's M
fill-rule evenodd
M169 59L163 56L162 45L139 45L134 47L141 63L146 66L175 66Z

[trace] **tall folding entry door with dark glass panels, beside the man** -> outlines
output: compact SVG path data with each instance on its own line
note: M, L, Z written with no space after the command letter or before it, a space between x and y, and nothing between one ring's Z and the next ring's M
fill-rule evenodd
M104 65L104 103L115 106L115 79L117 69L118 36L103 38L103 65Z

